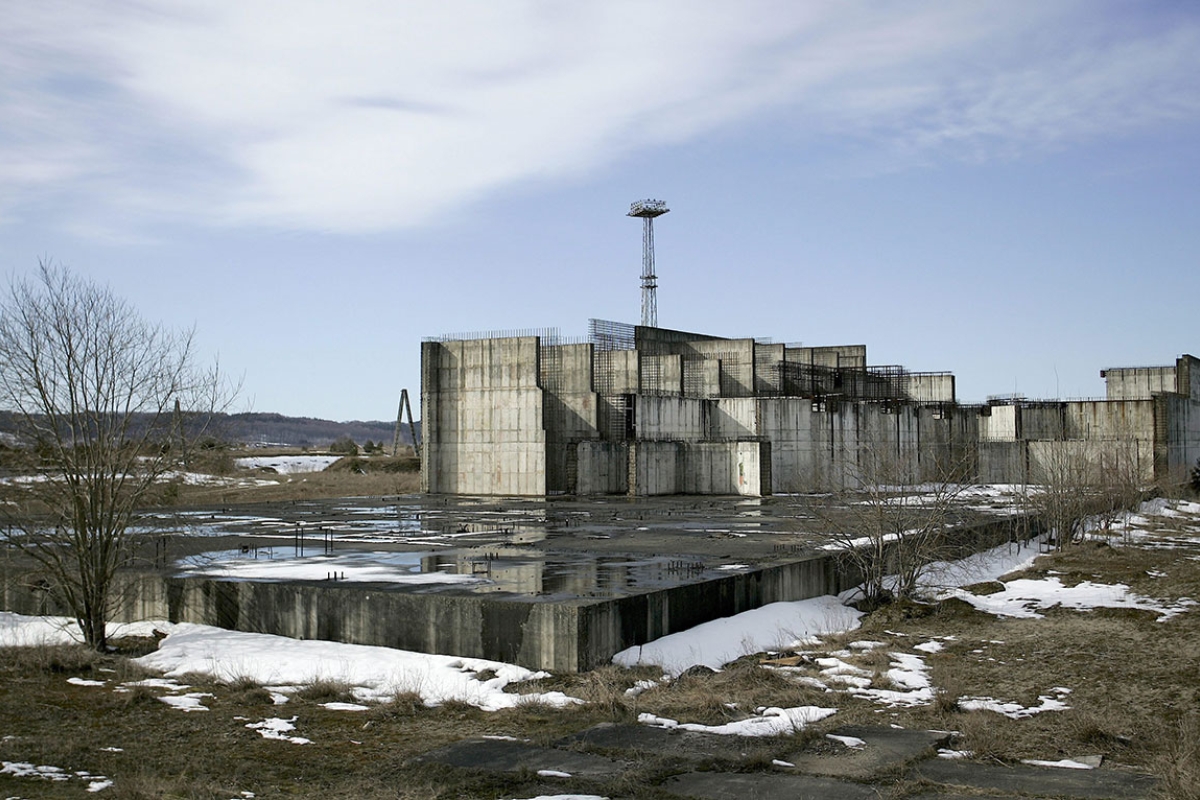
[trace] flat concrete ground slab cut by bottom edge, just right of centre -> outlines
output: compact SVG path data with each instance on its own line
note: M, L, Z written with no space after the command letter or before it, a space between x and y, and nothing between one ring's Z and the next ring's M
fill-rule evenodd
M869 786L809 775L767 772L686 772L667 778L660 787L667 794L708 800L875 800Z

